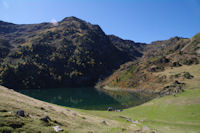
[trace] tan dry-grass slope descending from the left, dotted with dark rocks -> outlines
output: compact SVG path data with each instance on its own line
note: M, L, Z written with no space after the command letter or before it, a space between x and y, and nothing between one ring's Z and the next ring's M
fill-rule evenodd
M16 115L24 110L26 117ZM51 121L40 119L49 116ZM65 133L107 133L140 131L139 126L121 123L72 109L42 102L0 86L0 133L54 133L60 126Z

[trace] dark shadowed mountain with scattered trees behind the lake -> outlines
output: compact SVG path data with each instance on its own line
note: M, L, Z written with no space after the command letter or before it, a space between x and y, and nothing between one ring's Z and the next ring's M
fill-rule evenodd
M0 21L0 84L17 89L94 86L141 57L145 47L75 17L56 25Z

